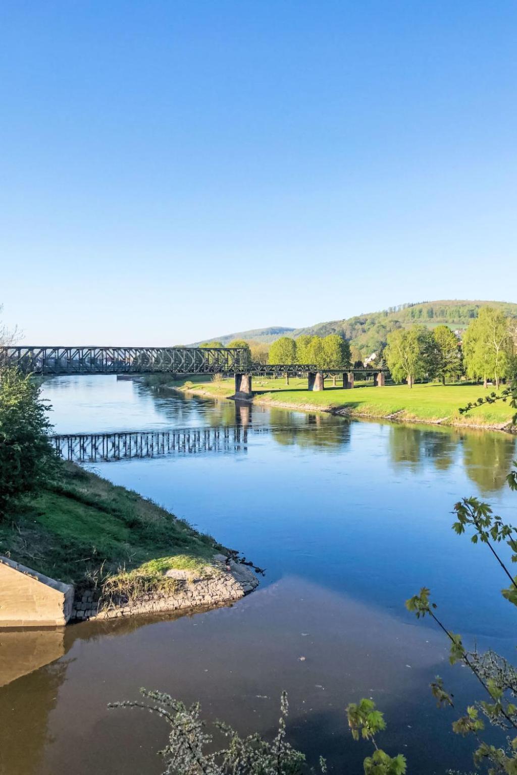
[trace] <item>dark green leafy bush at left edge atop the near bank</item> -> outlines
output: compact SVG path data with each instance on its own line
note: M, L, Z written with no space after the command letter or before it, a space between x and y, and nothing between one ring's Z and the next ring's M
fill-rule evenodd
M0 518L22 495L36 492L57 472L47 432L49 408L32 377L5 368L0 376Z

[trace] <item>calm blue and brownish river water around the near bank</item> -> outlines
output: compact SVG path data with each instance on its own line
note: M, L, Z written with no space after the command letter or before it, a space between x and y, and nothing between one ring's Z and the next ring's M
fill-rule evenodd
M505 579L485 547L452 532L450 512L476 494L511 518L505 474L515 438L241 408L115 377L62 377L44 394L56 432L244 426L246 436L219 449L93 468L267 572L231 608L64 633L0 632L2 664L9 655L21 676L0 687L2 775L160 773L155 752L167 728L149 714L106 708L137 698L141 686L199 699L206 718L240 732L274 729L286 689L291 742L339 773L363 771L370 747L351 739L345 707L371 697L388 722L379 742L405 753L408 772L470 769L470 742L450 724L477 686L448 666L442 636L408 615L404 601L431 587L455 632L512 653ZM428 688L436 673L457 711L436 708Z

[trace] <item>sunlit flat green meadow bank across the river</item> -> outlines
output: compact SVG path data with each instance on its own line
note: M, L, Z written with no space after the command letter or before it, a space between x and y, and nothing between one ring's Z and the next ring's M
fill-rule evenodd
M202 379L167 381L149 377L147 384L158 388L172 387L176 390L203 395L210 398L230 398L234 392L233 379L206 381ZM493 388L489 388L493 390ZM305 412L330 412L347 417L370 417L403 422L422 422L439 425L457 425L467 428L512 430L512 416L515 410L502 401L477 407L467 415L461 415L459 408L469 401L475 402L486 394L481 385L437 383L407 385L386 385L385 387L326 387L324 391L308 391L307 381L291 379L287 385L284 379L260 377L253 380L253 403L279 408L298 409ZM514 429L515 430L515 429Z

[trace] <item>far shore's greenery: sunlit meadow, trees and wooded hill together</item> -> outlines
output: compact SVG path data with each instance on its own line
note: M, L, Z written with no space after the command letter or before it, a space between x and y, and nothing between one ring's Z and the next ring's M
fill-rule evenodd
M236 338L228 346L247 348L250 361L260 364L263 374L267 364L298 363L331 375L324 391L308 390L306 379L289 379L288 374L285 381L253 377L255 403L350 417L515 430L512 408L498 391L517 374L516 312L516 305L502 302L426 302L312 329L274 329L284 336L272 341L260 331L248 332L249 339ZM388 368L393 384L379 389L371 381L356 381L353 390L350 382L339 387L340 372L364 367ZM230 398L235 390L233 381L221 374L212 381L207 377L172 381L167 375L144 379L211 397ZM464 411L470 405L476 405L475 412Z

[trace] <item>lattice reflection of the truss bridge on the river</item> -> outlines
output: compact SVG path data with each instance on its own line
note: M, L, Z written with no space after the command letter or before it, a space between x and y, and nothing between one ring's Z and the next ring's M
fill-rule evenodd
M56 452L64 460L78 463L132 460L172 454L246 451L250 432L267 433L267 427L223 425L215 428L184 428L118 433L74 433L51 436Z

